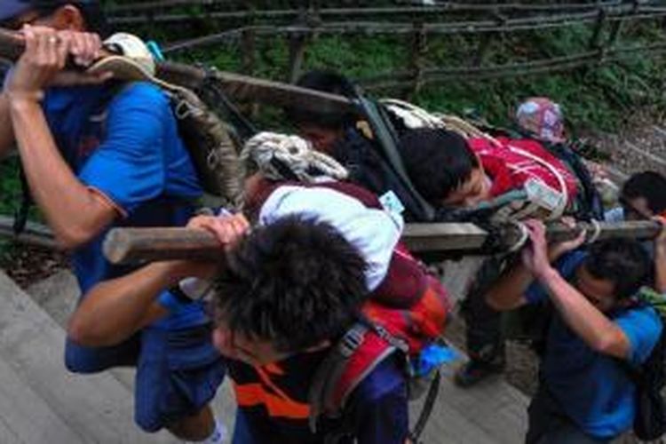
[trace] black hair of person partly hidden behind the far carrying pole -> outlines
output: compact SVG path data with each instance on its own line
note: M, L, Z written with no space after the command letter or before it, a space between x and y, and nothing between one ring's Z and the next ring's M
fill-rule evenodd
M333 71L309 71L298 78L296 85L348 98L355 95L353 83L344 75ZM353 113L341 113L337 111L313 113L312 111L298 108L287 109L287 116L291 123L296 126L313 125L332 131L342 130L347 126L353 125L356 121L356 115Z

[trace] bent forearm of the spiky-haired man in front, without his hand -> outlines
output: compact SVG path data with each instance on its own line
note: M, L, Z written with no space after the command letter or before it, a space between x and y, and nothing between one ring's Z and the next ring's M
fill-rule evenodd
M115 345L167 314L157 297L186 277L178 262L156 262L121 278L99 283L83 298L68 333L87 346Z

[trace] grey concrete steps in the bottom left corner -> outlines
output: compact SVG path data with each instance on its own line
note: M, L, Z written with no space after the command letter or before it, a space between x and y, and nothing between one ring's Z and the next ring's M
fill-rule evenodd
M0 293L0 424L9 424L0 436L27 443L175 442L166 432L139 431L131 392L114 377L68 373L65 331L2 272Z

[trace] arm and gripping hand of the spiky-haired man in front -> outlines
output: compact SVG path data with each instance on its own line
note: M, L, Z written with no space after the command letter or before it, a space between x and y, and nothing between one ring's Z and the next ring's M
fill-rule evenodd
M188 226L215 234L222 251L233 248L249 224L239 214L225 218L198 217ZM187 261L157 262L121 278L101 282L83 297L69 320L67 333L81 345L118 344L169 313L158 301L164 289L186 277L210 279L219 273L219 266Z

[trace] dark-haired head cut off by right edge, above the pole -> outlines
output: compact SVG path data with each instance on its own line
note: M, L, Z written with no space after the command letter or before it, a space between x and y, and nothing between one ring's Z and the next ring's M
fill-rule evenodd
M666 212L666 178L655 171L634 174L622 186L624 218L652 218Z

